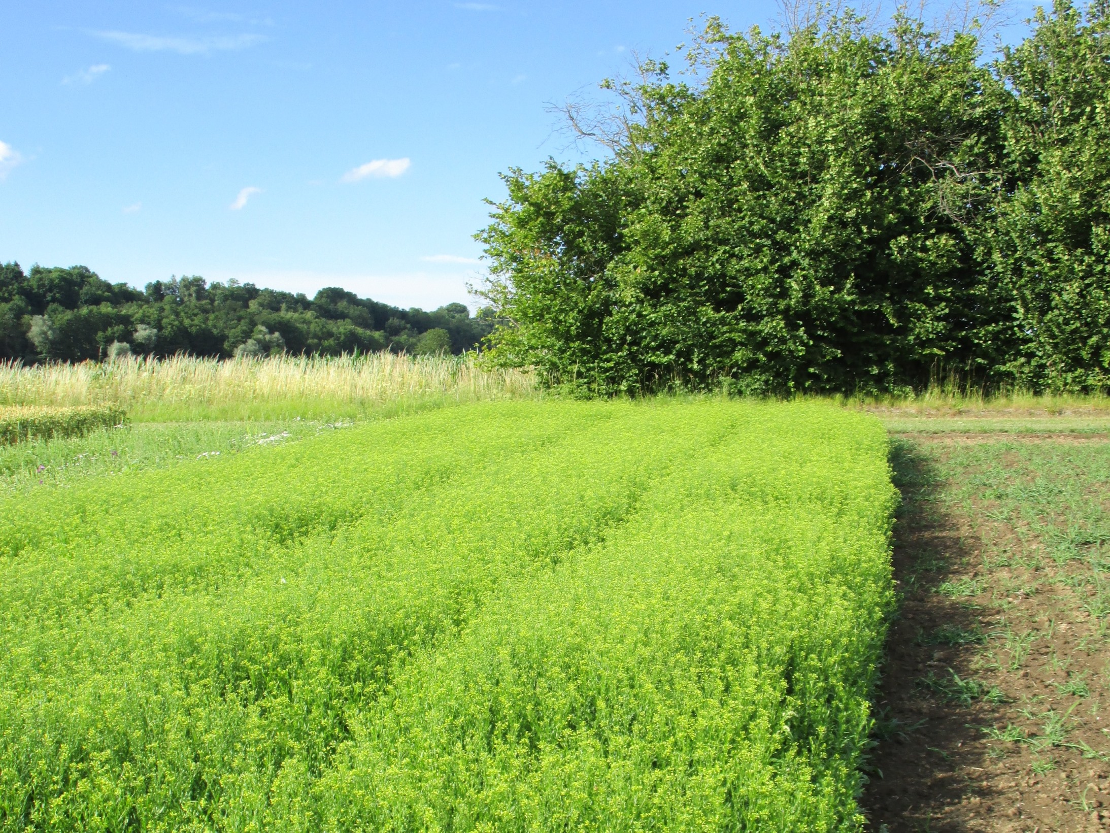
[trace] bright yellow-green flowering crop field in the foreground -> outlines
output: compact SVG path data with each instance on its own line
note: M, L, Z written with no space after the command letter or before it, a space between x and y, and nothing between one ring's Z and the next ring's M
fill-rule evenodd
M859 830L887 442L502 401L7 493L0 830Z

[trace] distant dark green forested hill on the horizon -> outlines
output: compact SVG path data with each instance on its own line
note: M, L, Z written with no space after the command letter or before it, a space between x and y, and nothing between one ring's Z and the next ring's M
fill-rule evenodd
M392 350L460 353L493 327L462 303L433 312L337 288L303 293L203 278L109 283L85 267L27 273L0 265L0 360L81 361L118 354L232 357Z

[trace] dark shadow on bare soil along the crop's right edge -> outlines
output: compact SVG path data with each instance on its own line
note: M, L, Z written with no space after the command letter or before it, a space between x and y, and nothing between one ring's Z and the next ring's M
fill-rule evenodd
M958 592L937 592L953 585L953 568L970 553L939 500L930 456L896 439L890 462L902 493L894 548L900 599L876 693L878 745L862 803L872 830L940 830L937 807L958 803L966 787L953 770L981 765L982 751L969 743L979 733L967 725L977 722L975 704L961 702L971 680L969 649L981 635Z

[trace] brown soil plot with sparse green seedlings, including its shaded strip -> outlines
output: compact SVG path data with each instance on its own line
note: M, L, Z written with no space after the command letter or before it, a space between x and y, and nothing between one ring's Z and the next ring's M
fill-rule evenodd
M871 831L1110 830L1107 439L895 438Z

